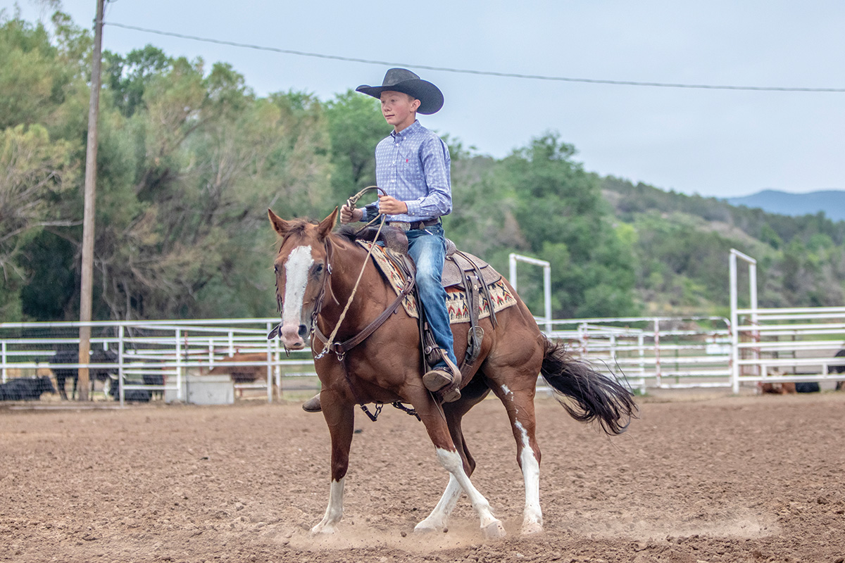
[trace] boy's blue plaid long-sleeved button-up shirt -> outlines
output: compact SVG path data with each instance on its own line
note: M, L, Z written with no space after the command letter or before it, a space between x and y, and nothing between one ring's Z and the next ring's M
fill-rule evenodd
M408 213L388 215L389 221L422 221L452 211L449 147L420 122L395 131L375 149L378 186L408 206ZM379 203L365 208L364 220L373 219Z

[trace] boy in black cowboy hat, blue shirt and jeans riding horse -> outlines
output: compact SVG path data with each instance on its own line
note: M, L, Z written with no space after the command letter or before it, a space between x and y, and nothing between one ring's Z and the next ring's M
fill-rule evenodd
M381 100L384 119L393 132L375 149L376 183L387 192L366 208L341 208L341 223L369 221L379 213L387 224L405 230L408 254L417 265L416 284L428 326L443 351L443 360L423 375L423 384L439 392L444 403L461 398L461 371L453 350L446 291L440 284L445 239L440 217L452 211L449 148L417 121L443 107L443 94L434 84L405 68L390 68L381 86L358 86L357 92ZM313 403L313 404L312 404ZM319 410L319 396L303 404Z

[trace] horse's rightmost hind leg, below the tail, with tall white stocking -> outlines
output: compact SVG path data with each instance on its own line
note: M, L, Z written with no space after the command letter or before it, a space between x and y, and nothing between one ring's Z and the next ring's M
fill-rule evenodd
M511 389L507 384L493 387L493 392L508 411L510 427L516 440L516 461L525 481L526 506L522 517L522 534L542 532L540 508L540 447L534 435L534 386L536 377L514 379ZM531 382L530 386L524 382ZM519 387L517 388L517 384Z

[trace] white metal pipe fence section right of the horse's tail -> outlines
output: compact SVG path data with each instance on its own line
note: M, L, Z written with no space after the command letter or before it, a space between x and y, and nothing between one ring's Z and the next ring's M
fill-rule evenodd
M845 367L834 357L845 348L845 307L739 309L737 318L735 333L723 317L567 319L553 321L551 336L641 392L845 381L833 369Z

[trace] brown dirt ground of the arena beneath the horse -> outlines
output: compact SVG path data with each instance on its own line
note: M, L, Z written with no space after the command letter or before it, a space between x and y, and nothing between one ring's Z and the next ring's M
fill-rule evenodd
M474 409L472 479L509 534L485 540L466 497L446 533L412 533L447 477L423 426L390 407L376 423L357 415L341 532L313 537L329 433L298 403L6 405L0 560L842 563L845 392L640 406L608 438L537 398L546 530L527 538L504 409Z

